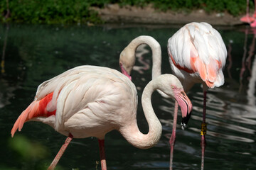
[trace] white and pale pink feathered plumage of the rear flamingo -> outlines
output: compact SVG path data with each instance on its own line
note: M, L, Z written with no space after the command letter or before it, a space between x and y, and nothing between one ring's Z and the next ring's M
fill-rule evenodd
M227 50L220 33L208 23L189 23L178 30L169 39L168 50L178 69L198 74L210 88L224 84Z

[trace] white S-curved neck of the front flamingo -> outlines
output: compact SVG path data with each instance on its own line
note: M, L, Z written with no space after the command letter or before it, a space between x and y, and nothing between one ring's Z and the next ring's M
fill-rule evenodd
M147 134L140 132L137 126L137 119L135 119L133 123L129 123L129 125L126 125L119 130L130 144L140 149L153 147L157 142L159 142L161 137L161 123L156 117L151 105L151 94L154 89L153 84L149 82L142 94L142 108L146 121L149 124L149 132Z

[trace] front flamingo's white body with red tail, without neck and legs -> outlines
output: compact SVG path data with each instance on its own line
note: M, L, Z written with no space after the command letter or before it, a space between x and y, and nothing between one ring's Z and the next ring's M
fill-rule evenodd
M130 114L125 114L129 111ZM103 139L118 125L136 120L137 91L114 69L82 66L43 82L11 135L27 120L42 121L74 138Z

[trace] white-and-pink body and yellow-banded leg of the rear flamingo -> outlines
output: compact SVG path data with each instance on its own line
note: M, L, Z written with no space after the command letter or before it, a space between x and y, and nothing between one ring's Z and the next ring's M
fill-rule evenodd
M223 68L227 49L220 33L208 23L188 23L168 40L171 70L187 92L193 84L203 84L202 162L206 147L206 93L224 84Z

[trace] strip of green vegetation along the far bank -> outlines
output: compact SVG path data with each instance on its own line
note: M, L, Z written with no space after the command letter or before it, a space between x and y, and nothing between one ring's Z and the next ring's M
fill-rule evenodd
M252 1L250 7L253 8ZM90 7L103 8L107 4L119 6L148 6L159 11L228 12L233 16L245 13L245 0L1 0L0 21L18 23L102 23L96 11Z

